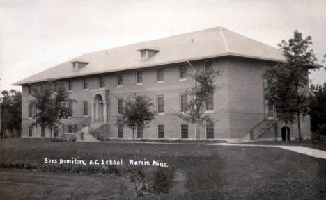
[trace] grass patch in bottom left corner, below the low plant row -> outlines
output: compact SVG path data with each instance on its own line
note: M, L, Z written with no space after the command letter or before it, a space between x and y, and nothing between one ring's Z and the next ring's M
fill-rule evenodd
M121 195L134 197L133 185L127 178L23 170L1 170L0 177L1 199L120 199Z

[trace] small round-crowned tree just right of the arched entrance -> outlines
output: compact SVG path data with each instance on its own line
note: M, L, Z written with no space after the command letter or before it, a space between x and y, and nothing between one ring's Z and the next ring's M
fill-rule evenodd
M124 101L123 115L121 117L121 124L125 124L132 129L132 142L134 145L134 128L143 127L155 119L157 114L154 110L152 99L146 96L133 94Z

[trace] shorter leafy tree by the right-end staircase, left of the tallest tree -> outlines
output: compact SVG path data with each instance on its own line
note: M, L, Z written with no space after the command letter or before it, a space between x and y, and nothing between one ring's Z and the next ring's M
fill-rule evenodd
M284 63L265 67L263 78L267 80L265 99L268 106L274 106L277 119L286 125L288 142L288 124L295 122L295 87L291 69Z

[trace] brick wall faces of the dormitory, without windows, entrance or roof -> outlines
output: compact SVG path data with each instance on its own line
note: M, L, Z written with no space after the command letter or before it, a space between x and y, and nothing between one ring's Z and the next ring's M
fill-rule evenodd
M193 61L194 67L203 70L205 60ZM181 64L181 63L180 63ZM117 138L117 99L127 99L137 93L153 99L157 106L157 95L164 96L164 115L157 115L150 126L143 128L143 138L157 138L157 124L165 125L165 138L180 139L180 124L185 124L178 117L180 113L180 94L187 93L194 86L191 75L194 68L188 67L187 80L179 80L180 64L164 65L164 81L157 83L157 67L140 69L143 74L143 83L136 84L137 70L123 71L123 85L117 86L116 73L102 74L105 78L105 88L100 88L100 74L88 76L88 90L83 89L83 77L72 78L72 92L70 97L77 100L73 106L75 122L81 122L85 117L92 115L92 101L95 94L101 94L108 103L109 131L101 131L107 138ZM264 117L263 102L263 69L265 63L259 60L242 59L235 57L216 58L213 68L219 71L215 78L217 90L214 94L215 139L237 139L249 133L250 128ZM87 66L86 66L87 67ZM64 81L64 80L63 80ZM68 85L65 81L65 85ZM22 88L22 135L28 136L28 97L27 87ZM83 116L83 102L88 101L88 116ZM306 135L310 135L307 124L302 124ZM189 124L189 139L196 138L195 127ZM105 130L105 128L104 128ZM40 135L40 128L33 129L33 137ZM295 131L295 130L293 130ZM302 131L303 132L303 131ZM308 133L309 132L309 133ZM49 136L49 131L45 132ZM132 130L124 128L124 138L132 138ZM201 138L205 138L205 128L201 130Z

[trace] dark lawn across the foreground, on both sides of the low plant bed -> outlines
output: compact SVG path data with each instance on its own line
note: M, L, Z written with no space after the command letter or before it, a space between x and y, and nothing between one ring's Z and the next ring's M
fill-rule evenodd
M135 151L132 144L126 143L62 143L29 138L7 139L0 141L0 160L28 159L43 163L44 158L79 157L84 160L123 158L127 161L136 153L140 159L162 160L170 167L176 167L176 180L183 183L177 183L178 189L171 190L172 194L135 197L132 183L121 177L0 169L0 197L326 199L326 160L323 159L277 147L135 144L134 148ZM18 194L20 195L17 196Z

